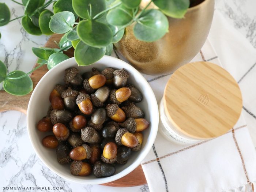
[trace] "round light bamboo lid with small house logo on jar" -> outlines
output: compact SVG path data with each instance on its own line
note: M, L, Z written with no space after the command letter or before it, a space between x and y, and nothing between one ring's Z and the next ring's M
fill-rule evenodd
M177 69L166 84L163 106L178 131L195 139L223 135L238 121L242 95L225 69L209 62Z

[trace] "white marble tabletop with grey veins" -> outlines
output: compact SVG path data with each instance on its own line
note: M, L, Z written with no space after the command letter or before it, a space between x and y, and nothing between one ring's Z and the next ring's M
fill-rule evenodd
M11 18L21 16L23 8L10 0L0 0L11 8ZM256 48L256 1L217 0L216 8ZM36 57L31 48L43 46L48 37L27 34L20 19L0 27L0 60L8 71L30 71ZM0 113L0 191L3 187L47 187L42 191L120 191L148 192L147 185L131 188L113 188L101 185L81 185L69 182L51 172L35 154L26 130L26 115L16 111ZM49 187L49 188L48 188ZM63 187L57 190L53 187ZM23 191L22 189L16 191ZM33 190L27 191L40 191Z

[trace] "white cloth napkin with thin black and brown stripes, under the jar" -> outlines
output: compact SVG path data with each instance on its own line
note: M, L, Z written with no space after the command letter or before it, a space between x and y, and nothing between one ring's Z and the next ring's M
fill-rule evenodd
M256 71L253 74L250 68L255 65L256 50L218 11L214 13L206 43L192 61L202 60L221 65L234 76L240 83L246 105L244 109L256 106L256 86L252 87L250 81L244 82L246 76L253 82L255 80ZM144 77L159 103L170 75ZM250 93L250 90L254 90L254 93ZM249 119L252 114L245 110L243 112L248 118L247 123L250 123L248 126L253 127L255 121ZM234 128L225 135L187 146L171 143L158 133L152 150L141 163L150 191L252 190L253 185L256 187L256 152L248 126L242 115Z

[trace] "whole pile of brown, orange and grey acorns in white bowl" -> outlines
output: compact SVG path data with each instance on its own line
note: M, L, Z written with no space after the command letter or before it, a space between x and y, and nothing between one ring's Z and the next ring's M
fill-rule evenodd
M79 74L77 68L65 70L62 86L50 93L51 106L37 129L52 131L42 140L56 148L61 164L71 163L73 175L112 176L114 163L125 164L132 151L142 146L141 131L148 128L144 112L135 103L142 94L127 84L125 69L106 68ZM92 169L93 167L93 169Z

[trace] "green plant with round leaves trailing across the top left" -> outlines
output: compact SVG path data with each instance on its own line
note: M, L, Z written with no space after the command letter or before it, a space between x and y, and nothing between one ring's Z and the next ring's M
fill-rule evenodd
M14 95L30 93L33 83L29 74L42 65L51 69L68 59L63 51L72 46L78 65L90 65L112 53L113 43L121 40L125 27L132 25L135 37L141 41L156 41L168 32L166 16L182 18L189 7L189 0L151 0L142 9L142 0L12 1L25 6L25 15L11 20L9 8L0 3L0 26L22 18L22 26L29 34L64 34L59 49L32 48L39 65L28 73L7 74L4 63L0 62L0 82L4 82L5 91ZM159 9L147 9L152 2ZM53 12L46 10L52 3Z

